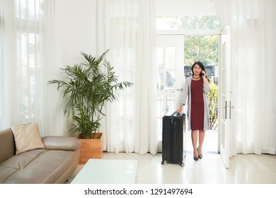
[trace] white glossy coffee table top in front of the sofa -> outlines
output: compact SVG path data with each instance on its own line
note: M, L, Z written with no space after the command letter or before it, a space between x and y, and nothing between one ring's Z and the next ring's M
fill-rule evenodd
M134 184L138 161L89 159L71 184Z

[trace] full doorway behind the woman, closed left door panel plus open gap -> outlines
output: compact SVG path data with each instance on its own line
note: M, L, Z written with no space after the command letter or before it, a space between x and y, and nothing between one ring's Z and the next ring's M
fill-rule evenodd
M210 91L207 95L211 129L206 132L204 150L205 153L219 153L219 35L158 35L156 45L156 72L159 76L157 82L158 101L156 103L159 142L162 137L161 120L163 115L173 112L179 106L183 82L192 74L190 70L192 64L195 61L201 61L211 80ZM186 132L185 148L187 152L192 152L191 132L188 131L187 124Z

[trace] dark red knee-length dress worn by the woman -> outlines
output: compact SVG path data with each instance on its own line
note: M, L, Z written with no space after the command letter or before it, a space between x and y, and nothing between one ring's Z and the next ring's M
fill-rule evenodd
M191 90L191 112L190 124L193 130L203 130L204 125L204 101L203 101L203 81L202 79L190 84Z

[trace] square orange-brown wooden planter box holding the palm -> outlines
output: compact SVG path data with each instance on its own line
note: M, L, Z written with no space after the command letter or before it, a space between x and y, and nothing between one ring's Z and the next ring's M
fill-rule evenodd
M103 133L96 133L94 139L79 139L81 156L79 164L85 164L90 158L103 158Z

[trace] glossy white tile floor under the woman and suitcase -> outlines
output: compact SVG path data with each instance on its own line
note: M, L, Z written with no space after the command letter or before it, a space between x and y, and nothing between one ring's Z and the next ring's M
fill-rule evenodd
M276 184L275 155L237 155L230 159L229 169L224 168L221 157L214 153L203 153L202 159L194 161L192 153L188 152L184 167L170 163L161 165L161 153L155 156L149 153L104 153L103 158L138 160L138 184ZM78 166L68 183L82 166Z

